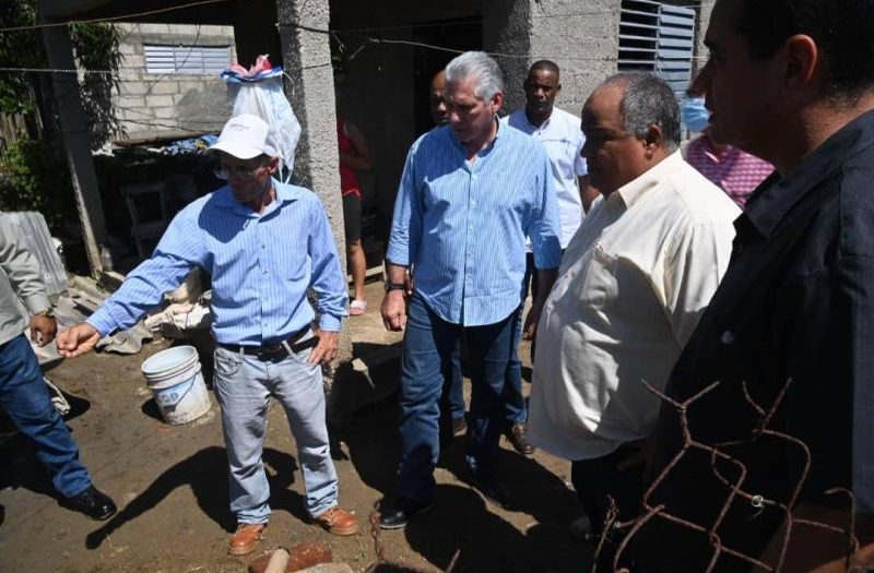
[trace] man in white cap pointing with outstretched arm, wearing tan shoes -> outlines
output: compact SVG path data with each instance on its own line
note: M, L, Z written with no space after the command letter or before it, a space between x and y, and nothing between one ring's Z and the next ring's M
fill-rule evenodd
M336 355L345 284L319 200L272 177L279 158L268 130L256 116L232 118L211 147L228 184L185 207L152 258L86 322L58 335L61 354L80 356L102 336L132 326L192 268L212 276L214 389L238 524L228 551L236 556L255 550L270 517L261 461L270 396L285 408L297 442L310 515L336 535L358 530L355 516L338 505L320 368Z

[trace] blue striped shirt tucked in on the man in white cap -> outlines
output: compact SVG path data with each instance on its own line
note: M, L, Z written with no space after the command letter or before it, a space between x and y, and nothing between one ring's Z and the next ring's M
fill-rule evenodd
M170 223L151 259L128 275L88 319L101 334L132 326L164 293L199 266L212 275L213 335L223 344L273 344L306 327L339 331L346 288L319 199L273 181L276 200L262 214L239 203L229 187L200 198Z

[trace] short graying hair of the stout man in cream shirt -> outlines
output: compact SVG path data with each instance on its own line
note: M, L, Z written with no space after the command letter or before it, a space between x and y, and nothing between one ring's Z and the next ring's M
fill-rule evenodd
M623 88L619 114L625 131L643 138L650 126L659 126L668 151L680 147L680 104L668 82L649 72L622 72L601 86Z

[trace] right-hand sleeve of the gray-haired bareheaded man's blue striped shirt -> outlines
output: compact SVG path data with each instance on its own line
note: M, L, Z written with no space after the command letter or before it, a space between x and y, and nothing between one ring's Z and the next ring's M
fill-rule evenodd
M534 266L557 268L562 264L560 225L558 199L553 186L552 167L544 151L538 166L535 184L538 201L527 235L534 251Z

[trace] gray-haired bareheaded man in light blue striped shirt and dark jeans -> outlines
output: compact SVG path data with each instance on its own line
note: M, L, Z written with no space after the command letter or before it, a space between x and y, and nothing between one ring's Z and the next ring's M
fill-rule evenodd
M497 479L504 429L505 374L518 343L525 236L541 276L524 330L533 335L560 262L559 224L546 151L520 131L501 128L497 63L466 52L446 68L450 126L411 147L394 205L387 253L382 320L405 329L401 363L401 462L398 496L380 526L406 525L434 501L439 454L439 398L464 336L471 354L468 463L473 485L507 506ZM413 294L404 274L413 267ZM409 305L409 308L408 308Z

